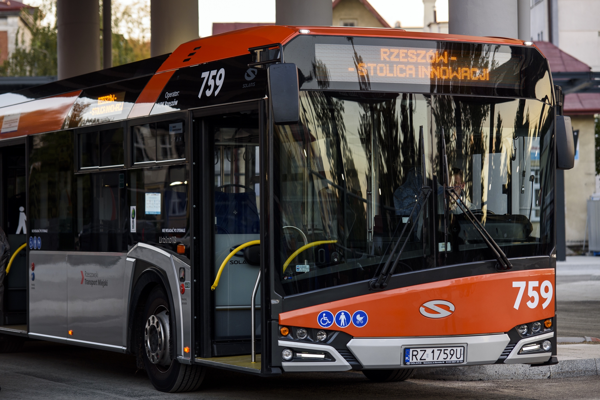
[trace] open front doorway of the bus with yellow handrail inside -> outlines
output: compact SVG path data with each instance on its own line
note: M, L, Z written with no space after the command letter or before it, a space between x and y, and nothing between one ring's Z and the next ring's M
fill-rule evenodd
M202 177L194 197L202 199L194 232L196 360L260 373L261 307L260 142L263 107L259 102L202 110L194 115L194 171ZM200 161L199 161L200 160ZM200 183L200 180L198 180ZM201 231L201 232L200 232ZM238 249L238 251L234 251ZM264 276L264 274L262 274ZM255 298L255 321L251 318Z

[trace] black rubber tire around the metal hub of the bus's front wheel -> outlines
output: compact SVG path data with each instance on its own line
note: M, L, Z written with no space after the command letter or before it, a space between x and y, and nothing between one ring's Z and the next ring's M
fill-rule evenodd
M153 315L160 313L161 311L166 310L167 315L169 315L169 327L173 326L174 320L173 317L170 316L170 305L169 298L164 293L164 290L161 286L156 286L150 294L148 295L148 300L146 301L146 307L144 310L144 320L141 324L142 328L142 337L144 337L144 330L146 328L146 321ZM158 365L152 363L148 358L148 354L146 354L145 344L142 344L142 357L144 360L144 365L146 367L146 372L148 372L148 377L152 382L152 385L160 392L167 393L175 393L175 392L191 392L193 390L197 390L204 379L204 375L206 369L199 365L186 365L179 363L178 360L173 356L174 354L174 346L173 346L173 329L169 329L169 353L171 362L170 365Z

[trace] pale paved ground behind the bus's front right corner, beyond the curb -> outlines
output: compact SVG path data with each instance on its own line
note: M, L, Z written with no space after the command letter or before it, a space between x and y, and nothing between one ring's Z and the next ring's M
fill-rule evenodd
M572 256L556 263L559 337L600 338L600 257Z

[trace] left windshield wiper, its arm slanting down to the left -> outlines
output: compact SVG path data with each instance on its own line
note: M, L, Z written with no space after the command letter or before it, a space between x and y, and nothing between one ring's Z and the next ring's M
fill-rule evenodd
M396 267L398 266L398 262L400 261L400 256L402 255L402 252L404 251L404 247L406 246L406 243L408 242L408 240L410 238L410 234L412 234L413 229L415 229L415 225L416 225L415 221L419 220L419 216L421 216L421 213L423 212L423 209L425 208L425 203L427 202L427 199L429 198L429 195L431 194L431 187L427 186L427 176L425 175L425 145L424 145L424 140L423 140L423 126L422 125L421 125L421 127L419 127L419 146L421 146L421 178L422 178L421 190L419 192L419 197L418 197L418 199L416 199L415 205L413 205L413 208L410 211L409 219L408 219L406 225L404 225L404 228L402 229L402 232L401 232L400 236L398 237L396 244L394 245L394 249L392 249L392 252L389 254L388 260L386 260L385 265L383 265L383 268L382 268L380 274L376 275L373 279L371 279L369 281L369 289L371 289L371 290L383 290L388 286L389 280L392 277L392 275L394 275L394 271L395 271ZM418 213L416 214L415 219L412 219L412 216L415 213L416 207L418 205L420 205L421 208L419 209ZM400 245L400 241L402 240L402 237L404 236L404 232L406 231L406 228L408 227L409 223L410 223L410 231L409 231L408 235L406 235L406 239L404 239L404 243L402 244L402 247L400 248L400 253L398 253L396 258L394 259L394 263L392 264L392 256L396 253L396 249L398 249L398 246Z

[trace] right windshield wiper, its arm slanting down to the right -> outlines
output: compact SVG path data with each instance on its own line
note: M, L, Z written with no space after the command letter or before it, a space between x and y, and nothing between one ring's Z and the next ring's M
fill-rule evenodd
M449 202L448 198L453 199L458 207L463 211L464 215L467 217L470 223L475 227L475 231L479 233L479 235L485 241L485 244L494 252L496 255L496 260L498 264L496 265L496 269L498 271L508 271L512 268L511 262L506 257L506 254L500 249L500 246L494 241L488 231L485 230L484 226L479 222L479 220L475 217L469 207L464 207L464 203L458 198L455 189L460 189L460 186L450 186L450 177L448 172L448 157L446 156L446 137L444 135L444 129L442 128L442 163L443 163L443 173L445 175L444 181L444 256L448 255L448 210L449 210Z

